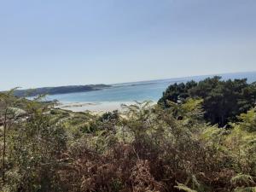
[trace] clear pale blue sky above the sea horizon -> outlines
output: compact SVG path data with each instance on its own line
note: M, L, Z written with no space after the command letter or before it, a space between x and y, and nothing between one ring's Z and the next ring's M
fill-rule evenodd
M256 71L255 0L0 0L0 90Z

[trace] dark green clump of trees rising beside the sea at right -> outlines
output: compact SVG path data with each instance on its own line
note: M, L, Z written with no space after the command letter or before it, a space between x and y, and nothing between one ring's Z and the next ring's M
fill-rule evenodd
M198 84L172 84L158 103L164 108L171 108L168 101L181 103L187 98L202 98L205 119L224 126L229 120L237 120L236 115L255 106L256 86L247 84L247 79L222 81L220 77L208 78Z

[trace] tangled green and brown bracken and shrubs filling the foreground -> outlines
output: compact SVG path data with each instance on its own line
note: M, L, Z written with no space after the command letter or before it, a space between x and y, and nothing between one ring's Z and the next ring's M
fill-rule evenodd
M192 94L201 86L212 92L219 84L218 78L191 82L186 91ZM201 89L198 94L207 94ZM0 191L255 190L254 108L229 127L218 128L207 124L206 100L197 96L166 100L169 108L137 102L124 105L123 112L102 115L53 108L41 97L27 101L4 96L0 116L8 109L9 124ZM3 151L3 128L0 138Z

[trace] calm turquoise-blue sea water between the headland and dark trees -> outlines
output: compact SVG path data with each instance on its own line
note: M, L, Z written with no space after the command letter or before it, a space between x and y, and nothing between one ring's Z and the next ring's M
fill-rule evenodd
M221 75L223 79L247 78L249 83L256 81L256 72L252 73L228 73ZM157 102L168 85L187 82L191 79L199 81L208 76L197 76L180 79L163 79L136 83L113 84L113 87L90 92L61 94L48 96L50 100L57 99L60 102L133 102L151 100Z

